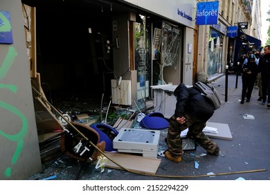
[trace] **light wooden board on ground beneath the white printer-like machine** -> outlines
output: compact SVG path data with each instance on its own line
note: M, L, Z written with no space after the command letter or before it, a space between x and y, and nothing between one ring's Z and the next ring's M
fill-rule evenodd
M159 165L161 164L161 159L141 157L138 155L121 154L118 152L105 152L105 155L113 161L116 161L116 163L121 166L138 173L156 174L156 171L159 169ZM105 167L123 169L110 160L107 161Z

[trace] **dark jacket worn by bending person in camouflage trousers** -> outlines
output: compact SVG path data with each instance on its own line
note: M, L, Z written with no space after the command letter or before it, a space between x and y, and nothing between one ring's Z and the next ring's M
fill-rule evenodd
M174 90L174 96L177 96L175 117L182 117L186 113L196 120L206 122L214 114L214 107L208 98L193 87L188 88L182 83Z

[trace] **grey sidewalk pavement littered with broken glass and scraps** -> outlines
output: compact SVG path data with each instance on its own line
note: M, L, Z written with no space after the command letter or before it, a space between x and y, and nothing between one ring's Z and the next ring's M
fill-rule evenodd
M219 156L199 156L204 150L186 151L180 164L161 158L161 165L153 176L138 175L125 170L105 168L103 173L93 165L86 166L78 179L83 180L269 180L270 179L270 109L260 105L258 89L253 89L250 103L240 104L242 78L228 75L228 96L226 97L226 76L210 83L222 98L222 106L215 111L210 122L226 123L230 127L232 140L213 139L219 144ZM226 99L226 100L225 100ZM251 114L255 119L245 119L245 114ZM269 120L268 120L269 119ZM165 134L161 134L159 150L165 150ZM195 168L196 164L199 164ZM37 173L28 179L42 179L56 175L54 179L75 179L80 163L63 156L57 163ZM214 173L215 176L208 176ZM205 176L206 175L206 176Z

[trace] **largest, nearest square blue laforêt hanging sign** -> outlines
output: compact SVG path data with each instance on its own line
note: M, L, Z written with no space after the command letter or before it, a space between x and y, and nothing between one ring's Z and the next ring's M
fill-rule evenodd
M197 3L197 25L217 24L219 1Z

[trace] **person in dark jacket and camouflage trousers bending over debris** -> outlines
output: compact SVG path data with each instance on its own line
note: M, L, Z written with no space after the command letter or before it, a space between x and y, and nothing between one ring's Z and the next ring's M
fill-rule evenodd
M174 115L169 120L167 143L168 150L165 157L177 163L181 162L183 155L181 132L188 128L187 137L194 138L210 155L219 155L219 146L202 132L206 121L213 116L212 103L193 88L183 83L174 90L177 104Z

